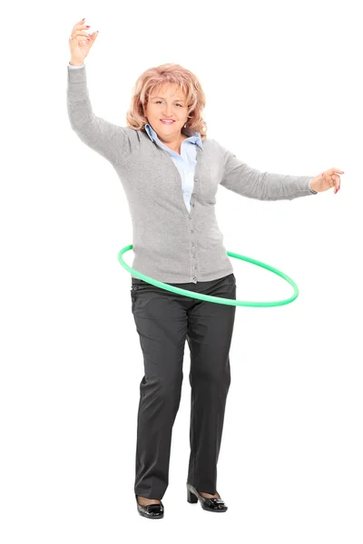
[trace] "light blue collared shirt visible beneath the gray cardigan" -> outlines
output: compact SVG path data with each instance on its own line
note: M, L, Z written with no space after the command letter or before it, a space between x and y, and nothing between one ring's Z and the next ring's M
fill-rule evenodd
M184 128L183 132L190 136L182 141L181 154L179 154L172 151L167 145L164 145L162 141L159 140L158 135L152 129L151 124L147 123L145 125L145 131L152 141L155 141L163 150L168 151L176 168L179 170L182 178L182 198L184 199L186 209L191 213L191 193L194 188L194 172L195 165L197 164L197 148L195 146L199 145L201 149L203 148L201 132Z

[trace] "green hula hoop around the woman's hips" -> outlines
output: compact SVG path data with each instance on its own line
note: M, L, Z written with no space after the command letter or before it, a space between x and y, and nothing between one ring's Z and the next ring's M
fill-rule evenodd
M231 251L227 251L227 255L234 258L239 258L240 260L247 261L251 263L252 265L257 265L258 267L266 268L266 270L270 270L270 272L273 272L274 274L277 274L278 276L285 279L290 286L294 288L294 294L290 296L289 298L285 298L283 300L274 300L271 302L250 302L248 300L234 300L233 298L222 298L221 296L210 296L210 295L201 295L201 293L193 293L192 291L189 291L188 289L181 289L180 287L170 286L169 284L163 283L162 281L158 281L157 279L153 279L152 277L145 276L141 272L138 272L132 267L129 267L124 260L123 260L123 253L126 253L126 251L130 251L132 249L132 244L130 246L125 246L121 251L119 252L118 259L121 264L121 266L130 272L132 276L139 277L140 279L143 279L143 281L146 281L147 283L152 284L156 287L161 287L162 289L165 289L166 291L172 291L172 293L179 293L180 295L184 296L191 296L191 298L199 298L200 300L207 300L209 302L214 302L216 304L227 304L230 306L256 306L256 307L269 307L269 306L284 306L285 304L289 304L295 298L299 295L299 288L294 282L293 279L291 279L289 276L278 270L277 268L270 267L270 265L266 265L265 263L262 263L255 258L245 257L243 255L240 255L239 253L232 253Z

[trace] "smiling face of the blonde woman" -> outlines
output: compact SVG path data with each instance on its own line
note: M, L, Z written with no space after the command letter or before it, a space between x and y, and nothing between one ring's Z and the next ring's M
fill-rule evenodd
M154 89L146 106L145 116L161 140L177 140L184 123L188 121L185 94L176 83L166 83ZM162 122L163 119L173 122Z

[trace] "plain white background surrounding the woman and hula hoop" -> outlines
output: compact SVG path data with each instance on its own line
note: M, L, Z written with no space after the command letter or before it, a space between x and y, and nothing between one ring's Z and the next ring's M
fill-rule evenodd
M2 20L0 498L4 544L188 540L361 544L362 73L358 2L32 2ZM225 247L284 271L287 306L237 307L217 489L186 501L190 352L165 517L133 495L142 350L128 203L111 164L71 130L68 37L86 17L93 111L126 126L148 67L181 63L207 97L208 136L259 170L344 170L288 201L220 187ZM132 264L133 253L125 256ZM231 258L240 300L288 297ZM130 531L132 531L130 533ZM171 532L172 531L172 532ZM126 535L128 534L128 537Z

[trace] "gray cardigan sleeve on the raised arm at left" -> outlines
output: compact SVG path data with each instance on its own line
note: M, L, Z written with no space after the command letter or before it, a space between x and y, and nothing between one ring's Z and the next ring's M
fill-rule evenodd
M130 138L131 131L93 113L84 64L76 69L68 65L67 72L67 111L73 131L105 159L113 164L124 164L135 147L134 136Z

